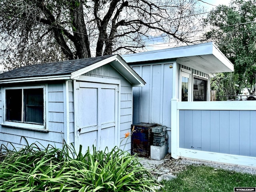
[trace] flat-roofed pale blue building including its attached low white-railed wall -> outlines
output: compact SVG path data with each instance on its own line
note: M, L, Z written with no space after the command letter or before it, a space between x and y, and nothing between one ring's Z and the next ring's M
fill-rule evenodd
M133 123L168 130L168 152L256 166L256 102L210 101L210 74L233 64L213 42L122 56L147 82L133 88Z

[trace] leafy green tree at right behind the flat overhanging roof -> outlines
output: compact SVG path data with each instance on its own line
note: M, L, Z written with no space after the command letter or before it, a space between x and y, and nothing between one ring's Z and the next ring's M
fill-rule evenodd
M208 14L205 23L213 26L205 34L234 64L233 84L253 92L256 77L256 0L232 0Z

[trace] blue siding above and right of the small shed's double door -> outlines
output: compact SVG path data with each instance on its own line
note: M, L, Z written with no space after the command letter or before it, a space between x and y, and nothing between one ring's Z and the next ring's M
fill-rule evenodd
M132 124L132 85L109 64L96 68L86 74L98 78L115 79L121 81L120 87L120 148L130 152L131 138L124 138L124 134L131 132Z

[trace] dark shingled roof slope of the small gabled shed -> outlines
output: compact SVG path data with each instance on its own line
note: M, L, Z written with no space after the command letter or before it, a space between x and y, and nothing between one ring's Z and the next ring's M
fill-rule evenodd
M29 65L0 74L0 80L71 74L114 55Z

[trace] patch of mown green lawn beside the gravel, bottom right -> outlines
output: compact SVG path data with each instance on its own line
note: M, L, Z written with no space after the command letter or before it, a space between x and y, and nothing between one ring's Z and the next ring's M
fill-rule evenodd
M177 178L163 181L163 192L233 192L234 187L256 187L256 175L214 169L208 166L188 166Z

